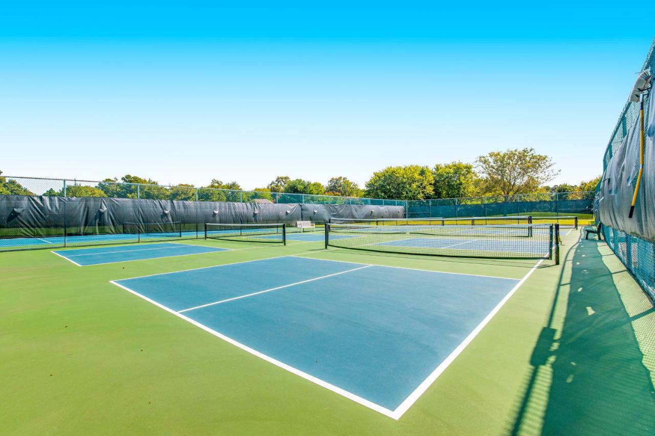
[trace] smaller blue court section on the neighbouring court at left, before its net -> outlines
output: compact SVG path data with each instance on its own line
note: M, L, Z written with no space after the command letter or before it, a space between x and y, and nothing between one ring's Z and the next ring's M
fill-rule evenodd
M81 248L74 250L52 251L65 259L79 265L99 265L126 261L142 261L159 257L184 256L192 254L213 253L224 251L225 248L204 247L191 244L140 244L112 247Z

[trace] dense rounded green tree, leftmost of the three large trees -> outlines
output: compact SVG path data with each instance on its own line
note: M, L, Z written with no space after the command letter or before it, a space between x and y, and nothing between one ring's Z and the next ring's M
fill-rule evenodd
M434 193L434 176L427 166L388 166L373 173L366 194L374 198L424 200Z

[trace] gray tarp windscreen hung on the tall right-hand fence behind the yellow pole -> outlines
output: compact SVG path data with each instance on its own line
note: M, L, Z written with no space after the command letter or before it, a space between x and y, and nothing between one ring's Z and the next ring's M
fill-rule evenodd
M597 196L601 223L627 234L655 241L655 98L644 108L644 169L635 213L627 215L639 172L639 120L629 130L607 165Z

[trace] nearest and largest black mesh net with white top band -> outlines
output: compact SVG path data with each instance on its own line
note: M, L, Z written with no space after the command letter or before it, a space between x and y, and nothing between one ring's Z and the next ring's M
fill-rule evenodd
M559 225L326 225L326 248L386 253L553 259L559 263Z

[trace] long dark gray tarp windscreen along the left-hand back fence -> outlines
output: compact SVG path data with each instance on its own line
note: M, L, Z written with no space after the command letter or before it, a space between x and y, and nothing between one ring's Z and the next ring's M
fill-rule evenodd
M136 200L132 198L0 195L0 237L120 234L126 225L181 223L183 231L204 223L324 222L339 218L402 218L402 206L257 204Z

